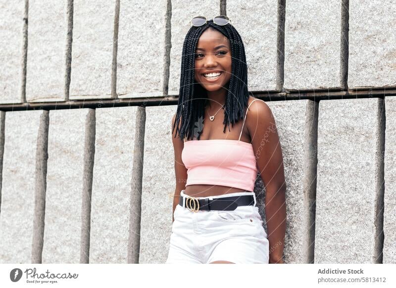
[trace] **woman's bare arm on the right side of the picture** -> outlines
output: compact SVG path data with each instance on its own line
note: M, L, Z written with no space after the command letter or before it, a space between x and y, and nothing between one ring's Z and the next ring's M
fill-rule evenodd
M254 101L248 114L247 129L266 191L269 263L284 263L282 255L286 232L286 182L279 135L271 109L264 101Z

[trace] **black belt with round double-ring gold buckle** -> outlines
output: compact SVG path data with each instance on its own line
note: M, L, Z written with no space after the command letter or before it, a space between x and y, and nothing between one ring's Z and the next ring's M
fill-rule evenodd
M213 196L215 197L215 196ZM210 200L208 197L204 199L198 199L193 196L183 196L180 195L179 205L183 207L183 201L186 199L184 205L190 211L198 212L198 210L235 210L238 206L246 206L254 204L253 195L239 195L239 196L229 196L213 198Z

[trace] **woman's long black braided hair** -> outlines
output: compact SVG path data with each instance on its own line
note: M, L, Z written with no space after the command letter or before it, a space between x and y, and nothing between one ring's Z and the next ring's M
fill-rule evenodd
M196 48L199 37L208 28L215 29L227 37L231 48L232 70L224 103L226 116L223 121L223 133L225 133L227 125L229 127L230 123L233 125L239 119L243 119L244 111L247 107L249 95L247 91L246 54L238 31L230 24L219 26L213 23L213 20L209 20L205 25L199 27L192 26L183 43L179 102L172 128L173 134L176 127L176 134L179 132L180 139L184 139L186 136L187 139L191 138L195 129L197 129L195 128L195 123L198 123L198 118L204 118L205 107L208 104L206 90L195 81ZM176 123L180 122L180 118L181 125L179 129L179 125L176 125ZM198 140L199 138L200 133Z

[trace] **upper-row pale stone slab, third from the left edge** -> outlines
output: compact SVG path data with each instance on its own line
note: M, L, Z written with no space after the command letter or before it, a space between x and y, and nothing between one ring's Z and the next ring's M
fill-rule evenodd
M115 0L74 0L73 6L69 97L110 97Z

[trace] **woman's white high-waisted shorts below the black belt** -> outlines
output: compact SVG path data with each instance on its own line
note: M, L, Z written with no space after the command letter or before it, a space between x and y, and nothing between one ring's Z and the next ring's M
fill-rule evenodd
M218 198L253 195L254 205L238 206L232 211L190 211L177 205L166 263L269 262L269 241L262 224L254 192L236 192ZM187 196L184 190L180 197Z

